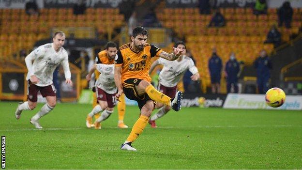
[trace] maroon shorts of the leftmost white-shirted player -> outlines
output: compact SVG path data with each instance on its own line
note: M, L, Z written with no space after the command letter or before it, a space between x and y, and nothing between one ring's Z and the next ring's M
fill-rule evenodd
M27 81L27 99L31 102L37 102L38 92L42 94L43 97L46 96L56 96L56 88L53 84L45 87L40 87L32 84L30 80Z

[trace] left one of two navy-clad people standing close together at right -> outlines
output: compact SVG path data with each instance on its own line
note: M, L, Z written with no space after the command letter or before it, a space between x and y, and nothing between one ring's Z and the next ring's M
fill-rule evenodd
M217 55L216 48L213 48L213 53L209 59L209 72L211 76L211 88L212 93L220 93L220 78L221 78L221 69L222 61Z

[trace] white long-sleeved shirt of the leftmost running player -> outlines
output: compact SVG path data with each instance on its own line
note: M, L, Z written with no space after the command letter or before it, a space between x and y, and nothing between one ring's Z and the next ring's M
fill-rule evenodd
M63 66L65 78L71 78L67 51L63 47L59 52L55 51L53 43L39 46L33 50L25 58L25 62L28 69L26 79L29 80L30 76L35 75L39 79L37 86L45 87L53 84L53 72L59 64Z

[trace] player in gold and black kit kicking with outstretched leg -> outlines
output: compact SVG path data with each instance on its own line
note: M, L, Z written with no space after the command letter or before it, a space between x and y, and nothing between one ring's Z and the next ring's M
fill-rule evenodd
M150 83L149 69L152 57L174 61L183 50L173 47L173 53L169 54L157 46L147 44L147 39L148 31L143 27L136 27L132 33L132 42L121 46L115 58L114 80L118 88L116 98L119 99L124 93L127 98L136 100L140 109L140 117L121 145L122 150L136 151L131 144L148 124L156 102L172 107L175 111L181 109L181 91L173 99L157 91Z

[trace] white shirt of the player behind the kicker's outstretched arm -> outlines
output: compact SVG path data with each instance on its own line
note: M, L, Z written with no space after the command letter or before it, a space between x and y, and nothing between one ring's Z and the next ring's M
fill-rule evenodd
M187 56L184 56L180 62L177 60L168 61L163 58L159 58L158 62L164 65L162 71L159 73L159 83L166 87L176 86L187 69L189 69L193 75L198 73L193 60Z

